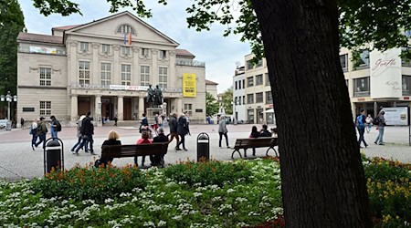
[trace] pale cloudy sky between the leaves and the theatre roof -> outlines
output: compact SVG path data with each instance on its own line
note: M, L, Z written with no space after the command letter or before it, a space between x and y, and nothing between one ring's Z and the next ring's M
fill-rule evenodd
M110 16L106 0L73 0L79 3L83 16L41 16L32 0L20 0L25 16L27 32L51 35L51 27L89 23ZM143 21L161 31L180 44L177 48L187 49L195 55L195 60L205 62L205 78L218 83L218 92L232 86L236 62L244 65L244 56L250 52L248 43L241 43L240 36L223 37L223 26L214 25L211 31L195 32L187 28L185 13L190 0L169 0L168 5L158 5L157 1L144 1L152 9L152 18ZM123 8L119 12L130 9ZM133 13L133 12L132 12Z

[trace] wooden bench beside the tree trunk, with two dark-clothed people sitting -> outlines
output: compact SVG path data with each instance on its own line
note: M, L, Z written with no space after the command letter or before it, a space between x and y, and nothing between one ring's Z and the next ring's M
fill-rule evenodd
M234 159L234 153L238 152L240 158L243 158L241 156L241 153L239 150L243 149L244 150L244 156L247 157L247 149L250 148L263 148L263 147L268 147L269 149L266 151L266 156L269 156L269 150L272 149L276 153L276 156L279 157L279 154L277 153L277 150L274 149L275 146L278 146L278 138L276 137L260 137L257 139L253 138L247 138L247 139L237 139L236 140L236 145L234 146L234 151L231 154L231 158Z

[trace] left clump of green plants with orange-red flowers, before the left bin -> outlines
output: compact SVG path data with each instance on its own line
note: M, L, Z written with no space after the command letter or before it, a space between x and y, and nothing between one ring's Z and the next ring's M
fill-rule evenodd
M41 192L46 198L103 202L121 192L143 189L145 184L144 174L135 166L74 167L69 171L52 170L45 178L33 181L33 191Z

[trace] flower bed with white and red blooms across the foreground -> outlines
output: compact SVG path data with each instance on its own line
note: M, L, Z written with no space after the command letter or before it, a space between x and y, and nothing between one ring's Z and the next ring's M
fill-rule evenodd
M411 165L363 157L375 227L411 223ZM279 162L75 167L0 181L0 227L284 227Z

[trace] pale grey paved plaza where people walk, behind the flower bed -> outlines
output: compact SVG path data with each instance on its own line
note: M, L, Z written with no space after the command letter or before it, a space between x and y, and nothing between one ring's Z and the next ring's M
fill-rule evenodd
M253 125L239 124L227 125L230 146L234 146L236 139L248 138ZM260 125L256 125L260 128ZM272 126L269 126L272 127ZM107 138L110 130L117 130L121 136L122 144L134 144L140 133L134 127L113 127L104 126L95 128L94 150L97 155L90 155L79 150L79 156L71 154L71 147L77 142L76 128L63 128L58 133L58 137L64 142L64 166L66 169L76 164L84 166L93 163L99 158L101 144ZM200 132L206 132L210 136L210 156L219 161L231 160L232 149L226 148L223 139L223 148L218 147L218 126L217 125L192 125L190 126L191 136L186 136L186 148L188 151L174 151L175 140L171 143L165 163L173 164L178 161L196 160L196 138ZM296 129L297 130L297 129ZM166 133L169 132L165 129ZM369 143L369 148L364 149L364 153L370 157L393 158L398 161L411 162L411 147L408 146L408 127L386 127L385 146L378 146L373 143L378 131L373 128L370 133L365 133L365 140ZM49 133L47 134L47 138ZM257 156L265 155L267 149L257 149ZM330 151L332 152L332 151ZM248 151L248 155L251 151ZM273 154L273 153L272 153ZM239 158L235 154L235 159ZM139 158L139 164L141 163ZM31 149L31 135L28 129L16 129L11 131L0 130L0 179L16 180L20 178L42 177L44 171L44 156L40 146L36 150ZM113 164L123 166L133 163L133 158L114 159ZM146 159L146 165L150 161Z

